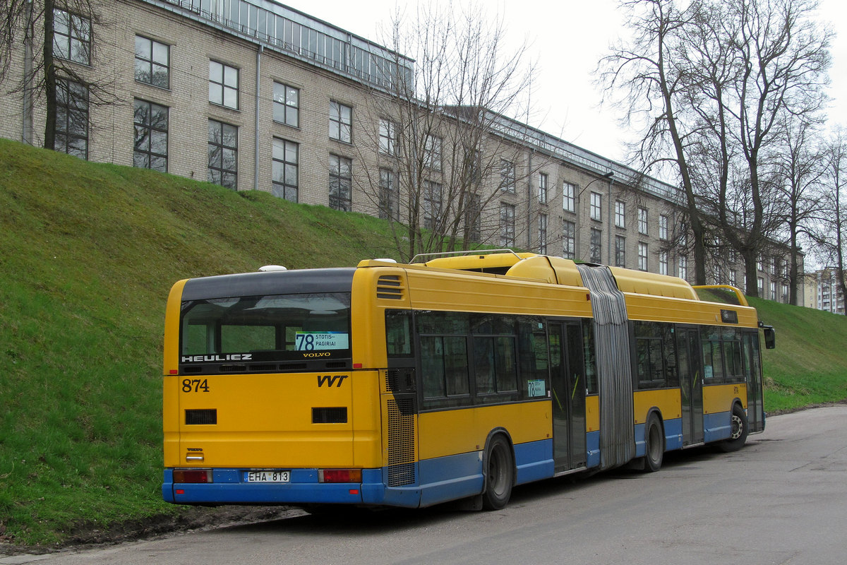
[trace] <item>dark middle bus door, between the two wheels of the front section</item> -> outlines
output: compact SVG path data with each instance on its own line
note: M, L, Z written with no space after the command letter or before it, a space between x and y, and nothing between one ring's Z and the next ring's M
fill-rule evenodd
M700 332L677 326L677 359L682 395L683 445L703 442L703 363Z

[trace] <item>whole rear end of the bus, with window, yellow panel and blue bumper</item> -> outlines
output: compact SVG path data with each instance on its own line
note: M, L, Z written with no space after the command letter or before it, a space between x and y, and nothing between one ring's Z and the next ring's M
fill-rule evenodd
M164 336L165 501L357 504L363 489L382 488L378 372L352 363L354 271L174 285Z

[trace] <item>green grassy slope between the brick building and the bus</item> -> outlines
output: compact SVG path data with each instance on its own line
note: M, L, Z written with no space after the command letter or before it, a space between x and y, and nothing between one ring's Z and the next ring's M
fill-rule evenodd
M392 256L384 222L0 140L0 539L160 512L164 301L185 277ZM847 319L756 302L768 409L847 398Z

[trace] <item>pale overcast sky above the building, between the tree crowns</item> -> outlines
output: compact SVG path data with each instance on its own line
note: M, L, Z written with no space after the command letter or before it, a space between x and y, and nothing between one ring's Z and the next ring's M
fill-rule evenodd
M384 45L380 30L390 25L397 3L396 0L280 1ZM431 1L449 3L449 0ZM453 4L458 2L454 0ZM610 44L623 32L623 14L617 9L617 0L477 0L477 3L490 5L492 13L504 16L508 36L516 45L525 39L530 56L538 62L538 75L531 92L534 114L529 116L529 125L606 158L623 161L624 143L634 134L619 124L616 108L599 106L601 91L595 86L594 73L597 62L609 53ZM819 0L819 3L820 18L831 22L833 29L844 28L847 2ZM847 127L847 31L836 37L832 54L830 122ZM525 116L512 117L527 121Z

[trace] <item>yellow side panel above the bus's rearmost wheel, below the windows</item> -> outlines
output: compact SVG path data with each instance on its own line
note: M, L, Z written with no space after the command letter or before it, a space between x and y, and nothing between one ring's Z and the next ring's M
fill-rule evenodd
M418 458L431 459L485 448L492 429L505 429L512 443L552 437L551 402L520 402L443 410L418 415Z

